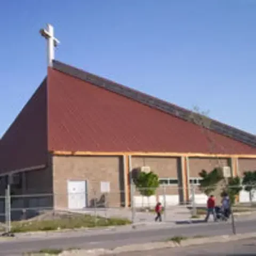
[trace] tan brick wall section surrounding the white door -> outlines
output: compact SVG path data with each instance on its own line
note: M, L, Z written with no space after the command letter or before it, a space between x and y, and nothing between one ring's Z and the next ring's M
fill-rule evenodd
M124 204L123 159L119 156L53 156L54 205L68 207L68 180L87 181L87 206ZM110 182L110 193L100 191L101 181ZM105 199L104 199L105 197ZM94 201L95 199L95 201Z

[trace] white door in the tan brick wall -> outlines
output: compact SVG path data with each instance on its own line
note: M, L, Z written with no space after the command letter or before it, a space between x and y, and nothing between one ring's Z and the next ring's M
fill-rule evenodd
M87 182L68 180L68 209L81 210L86 207Z

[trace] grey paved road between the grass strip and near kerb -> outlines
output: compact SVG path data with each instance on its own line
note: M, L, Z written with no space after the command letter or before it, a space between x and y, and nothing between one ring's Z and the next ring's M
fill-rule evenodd
M237 233L255 232L256 220L244 220L236 223ZM187 224L172 228L159 228L151 230L102 231L98 233L78 233L77 236L62 236L19 239L12 242L0 243L0 255L20 255L22 252L37 251L44 248L67 249L78 247L83 249L107 248L127 244L164 241L172 236L214 236L231 234L230 223L201 223ZM215 254L217 255L217 254Z

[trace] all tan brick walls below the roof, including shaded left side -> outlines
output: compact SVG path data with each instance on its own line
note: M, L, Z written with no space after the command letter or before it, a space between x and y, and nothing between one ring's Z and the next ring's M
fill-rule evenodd
M127 161L126 161L127 162ZM179 195L180 202L186 199L184 194L186 182L186 167L182 164L180 157L149 157L132 156L131 169L141 166L150 166L151 170L158 174L159 178L178 179L178 185L166 187L167 195ZM235 163L235 162L234 162ZM127 163L126 163L127 164ZM230 159L222 158L199 158L188 159L188 181L189 178L198 177L203 169L210 172L220 165L230 164ZM125 178L129 183L129 177L124 175L123 156L50 156L49 165L45 169L31 170L25 172L25 182L20 194L30 195L27 207L51 207L67 209L68 207L68 180L87 181L87 206L93 206L94 198L98 204L120 207L125 205ZM182 173L182 168L183 173ZM242 177L247 170L256 170L256 159L238 158L238 175ZM182 181L182 179L184 181ZM110 182L110 193L103 194L100 191L100 182ZM186 191L186 189L185 189ZM200 191L196 190L196 193ZM19 193L18 193L19 194ZM52 196L36 196L36 194L52 194ZM139 195L138 191L135 195ZM159 187L156 196L163 195L163 188ZM130 202L127 202L129 204ZM126 204L126 205L127 205Z

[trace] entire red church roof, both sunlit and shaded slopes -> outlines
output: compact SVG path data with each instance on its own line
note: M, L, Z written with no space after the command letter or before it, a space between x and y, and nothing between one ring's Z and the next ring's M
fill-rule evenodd
M256 154L256 147L126 97L122 90L140 101L144 94L113 83L107 90L107 80L61 68L49 68L47 84L44 79L0 140L1 172L45 165L54 150Z

